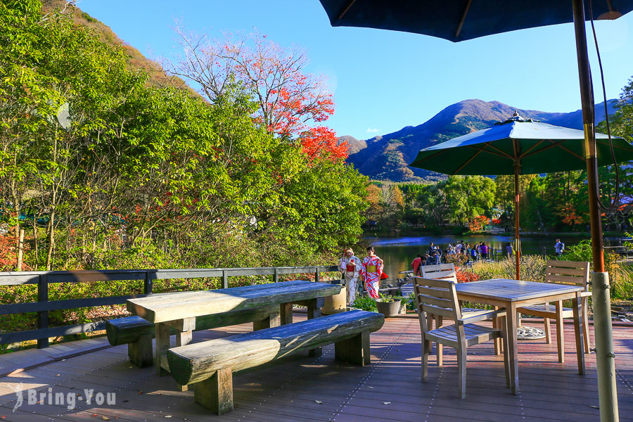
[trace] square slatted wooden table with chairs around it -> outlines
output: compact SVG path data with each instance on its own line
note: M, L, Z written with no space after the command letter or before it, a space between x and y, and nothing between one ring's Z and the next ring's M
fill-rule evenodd
M508 330L508 354L510 357L510 388L518 394L518 356L517 356L517 316L516 309L526 305L536 305L556 300L571 299L574 311L574 330L576 334L576 354L578 373L584 374L584 342L582 331L585 324L580 294L582 286L555 283L535 283L532 281L491 279L457 283L457 298L468 302L483 303L506 308L506 327Z

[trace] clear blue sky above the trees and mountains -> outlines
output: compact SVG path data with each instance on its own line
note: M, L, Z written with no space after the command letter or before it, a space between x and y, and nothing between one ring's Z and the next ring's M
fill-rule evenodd
M426 122L468 99L531 110L580 108L573 25L508 32L454 44L404 32L330 26L318 0L79 0L146 56L172 56L176 21L188 30L267 34L307 50L308 72L328 77L339 136L369 139ZM587 35L591 28L587 26ZM596 22L608 98L633 76L633 13ZM599 68L590 39L596 102Z

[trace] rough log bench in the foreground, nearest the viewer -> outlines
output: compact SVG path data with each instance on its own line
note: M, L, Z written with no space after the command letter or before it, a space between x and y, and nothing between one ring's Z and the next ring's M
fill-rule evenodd
M363 366L370 363L369 333L384 322L385 317L376 312L341 312L175 347L167 350L167 361L179 385L195 384L196 403L221 415L233 410L234 372L331 343L337 360Z

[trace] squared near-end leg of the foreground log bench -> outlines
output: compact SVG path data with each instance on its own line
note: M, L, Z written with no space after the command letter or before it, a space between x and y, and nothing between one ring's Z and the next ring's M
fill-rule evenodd
M210 378L196 383L193 399L215 414L233 410L233 373L231 368L218 369Z

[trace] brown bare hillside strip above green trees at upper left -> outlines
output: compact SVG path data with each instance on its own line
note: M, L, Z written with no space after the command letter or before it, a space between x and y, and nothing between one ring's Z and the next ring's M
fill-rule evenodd
M102 42L111 46L122 46L127 53L129 65L147 72L150 77L149 83L159 86L173 85L181 89L186 89L192 96L199 96L198 93L189 87L182 79L165 75L165 72L163 72L158 63L143 56L139 50L126 44L125 41L117 37L117 34L115 34L108 25L93 18L74 4L68 3L66 0L42 0L42 6L44 13L54 11L56 8L65 11L65 13L69 13L72 16L72 20L77 25L87 27L94 31Z

